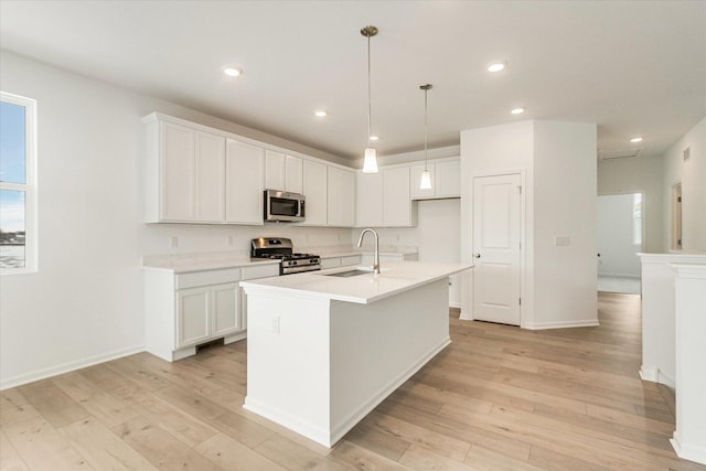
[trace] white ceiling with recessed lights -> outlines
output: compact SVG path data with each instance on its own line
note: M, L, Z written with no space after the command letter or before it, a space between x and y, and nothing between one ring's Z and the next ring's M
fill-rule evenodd
M654 156L706 116L706 1L0 1L2 49L350 159L367 24L381 154L422 148L424 83L430 148L549 119Z

